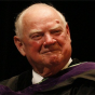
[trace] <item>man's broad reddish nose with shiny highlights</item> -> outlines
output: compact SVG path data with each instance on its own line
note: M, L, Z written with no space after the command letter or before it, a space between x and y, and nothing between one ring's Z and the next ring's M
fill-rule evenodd
M54 39L53 36L51 36L50 33L48 33L48 35L45 36L43 45L44 45L44 46L50 46L50 45L52 45L52 44L54 44L54 43L56 43L56 39Z

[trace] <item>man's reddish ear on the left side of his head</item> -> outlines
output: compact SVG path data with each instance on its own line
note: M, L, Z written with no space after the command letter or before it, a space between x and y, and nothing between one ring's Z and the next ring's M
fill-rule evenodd
M21 39L17 36L14 36L14 43L17 48L17 50L19 51L19 53L25 56L26 53L24 51L24 43L21 41Z

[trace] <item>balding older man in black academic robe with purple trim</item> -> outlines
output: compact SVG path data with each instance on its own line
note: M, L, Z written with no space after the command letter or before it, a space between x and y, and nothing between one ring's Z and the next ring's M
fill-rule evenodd
M69 26L56 9L45 3L30 5L18 15L15 32L14 43L27 57L32 70L1 84L21 91L21 95L95 94L95 65L82 63L72 66L79 62L71 59ZM19 95L19 92L14 95Z

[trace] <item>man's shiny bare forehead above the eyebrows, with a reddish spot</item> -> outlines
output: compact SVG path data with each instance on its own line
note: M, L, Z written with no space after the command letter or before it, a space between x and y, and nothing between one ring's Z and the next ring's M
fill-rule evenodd
M50 6L37 5L30 8L23 17L24 29L29 29L31 27L39 28L43 25L51 26L53 23L62 24L63 22L57 12ZM53 27L56 27L56 25Z

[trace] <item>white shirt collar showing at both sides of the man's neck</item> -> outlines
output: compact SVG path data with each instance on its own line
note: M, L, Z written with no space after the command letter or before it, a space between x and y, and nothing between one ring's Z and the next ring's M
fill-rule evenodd
M71 62L72 62L72 59L70 58L69 62L66 64L66 66L63 69L66 69L70 65ZM42 79L43 79L43 77L41 77L40 74L38 74L37 72L35 72L32 70L32 80L31 80L32 84L39 83Z

